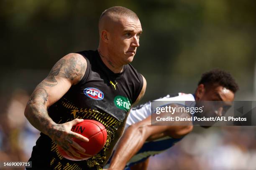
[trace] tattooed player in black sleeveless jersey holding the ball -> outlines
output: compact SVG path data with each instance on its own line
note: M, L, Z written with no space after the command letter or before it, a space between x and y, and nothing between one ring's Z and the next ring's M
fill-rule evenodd
M146 90L145 78L129 64L141 32L133 11L125 7L105 10L99 20L98 49L62 57L37 85L25 110L29 122L41 131L30 158L32 169L102 169L123 133L128 112ZM80 156L76 150L86 153L72 140L88 141L71 131L82 119L105 125L107 143L89 160L67 160L59 155L56 144L71 157Z

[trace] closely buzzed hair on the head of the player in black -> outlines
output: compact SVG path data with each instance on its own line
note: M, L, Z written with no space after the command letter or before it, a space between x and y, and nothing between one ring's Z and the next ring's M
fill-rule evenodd
M126 17L130 17L132 19L138 19L138 16L136 13L134 13L132 10L129 10L126 7L121 7L121 6L115 6L115 7L110 7L103 11L103 13L100 15L100 19L104 15L109 15L109 14L114 14L114 15L123 15ZM99 20L100 21L100 20Z

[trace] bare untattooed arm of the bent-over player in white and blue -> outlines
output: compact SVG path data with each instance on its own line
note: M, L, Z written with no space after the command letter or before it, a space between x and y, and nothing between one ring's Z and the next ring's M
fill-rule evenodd
M140 150L146 140L156 140L165 136L181 138L191 130L192 126L151 126L151 116L149 116L125 131L108 170L125 168L126 163Z

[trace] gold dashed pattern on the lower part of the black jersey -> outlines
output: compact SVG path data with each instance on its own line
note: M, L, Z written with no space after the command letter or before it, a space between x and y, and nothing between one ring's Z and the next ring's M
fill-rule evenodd
M102 164L106 160L106 151L108 150L111 141L114 139L115 130L121 125L121 122L105 112L102 113L98 110L90 108L78 108L69 101L61 101L61 104L63 107L66 107L69 110L70 115L73 116L71 118L68 117L67 119L61 117L60 120L62 121L58 120L59 123L69 122L71 120L74 120L75 118L83 118L97 120L105 126L108 136L103 149L100 151L100 153L94 155L92 158L84 160L86 161L88 167L102 170ZM56 155L51 158L51 166L55 166L54 169L58 170L63 168L64 170L82 170L82 167L79 167L79 165L75 163L62 163L61 160L64 158L60 155L56 147L56 143L54 143L53 141L51 143L51 152Z

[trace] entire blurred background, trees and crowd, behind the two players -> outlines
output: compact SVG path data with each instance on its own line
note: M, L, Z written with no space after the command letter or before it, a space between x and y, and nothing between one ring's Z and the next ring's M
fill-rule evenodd
M28 97L54 63L96 50L103 10L137 13L143 34L132 65L146 78L141 103L193 93L212 68L230 72L236 100L256 100L256 10L253 0L0 0L0 161L26 161L38 138L23 115ZM151 158L149 170L255 170L255 127L196 127Z

